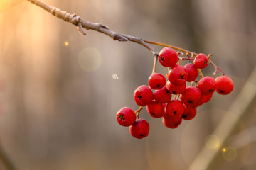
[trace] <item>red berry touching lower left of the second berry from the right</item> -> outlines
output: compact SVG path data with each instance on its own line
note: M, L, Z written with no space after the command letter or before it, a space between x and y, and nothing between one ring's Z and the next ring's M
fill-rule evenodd
M186 90L181 93L181 101L186 104L186 106L196 106L196 103L201 98L201 91L194 86L186 87Z

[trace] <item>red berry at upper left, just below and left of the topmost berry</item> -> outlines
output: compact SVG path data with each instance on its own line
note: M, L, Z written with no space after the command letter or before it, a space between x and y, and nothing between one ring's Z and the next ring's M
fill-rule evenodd
M151 74L149 77L149 87L151 89L161 89L166 84L166 79L164 75L159 73Z

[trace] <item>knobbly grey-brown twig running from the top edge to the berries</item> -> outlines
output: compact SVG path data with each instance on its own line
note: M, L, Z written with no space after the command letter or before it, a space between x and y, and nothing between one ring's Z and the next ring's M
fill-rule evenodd
M83 28L87 30L96 30L100 33L104 33L105 35L110 36L111 38L113 38L113 40L136 42L140 45L143 45L148 50L150 50L154 56L158 55L158 52L156 52L156 50L154 50L153 47L151 47L144 40L142 40L142 38L137 38L131 35L125 35L122 33L114 32L113 30L110 30L108 26L105 26L102 23L91 23L89 21L85 21L80 16L77 16L75 13L70 14L66 11L60 10L59 8L45 4L43 1L38 1L38 0L28 0L28 1L35 4L36 6L43 8L44 10L53 14L53 16L56 16L60 19L63 19L64 21L67 21L77 26L78 31L83 35L85 35L85 31L83 30Z

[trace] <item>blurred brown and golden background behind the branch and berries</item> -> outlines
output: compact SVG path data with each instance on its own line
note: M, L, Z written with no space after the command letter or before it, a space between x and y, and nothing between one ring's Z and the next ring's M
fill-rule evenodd
M81 35L26 0L1 0L0 143L16 169L183 170L194 161L200 166L212 152L217 154L207 169L255 169L256 1L44 2L119 33L212 53L235 88L228 96L213 94L196 118L174 130L144 108L140 117L150 132L137 140L115 115L124 106L139 108L133 92L147 84L151 52L93 30ZM156 72L166 74L166 68L158 64ZM212 66L203 69L213 72ZM213 132L233 121L222 144ZM203 148L204 159L198 156Z

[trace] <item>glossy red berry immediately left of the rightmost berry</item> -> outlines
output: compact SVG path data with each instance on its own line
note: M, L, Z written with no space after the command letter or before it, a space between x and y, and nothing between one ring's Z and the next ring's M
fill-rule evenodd
M198 82L198 89L203 95L213 94L216 88L217 84L213 77L203 77Z

